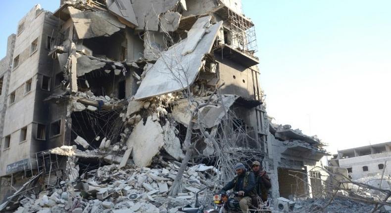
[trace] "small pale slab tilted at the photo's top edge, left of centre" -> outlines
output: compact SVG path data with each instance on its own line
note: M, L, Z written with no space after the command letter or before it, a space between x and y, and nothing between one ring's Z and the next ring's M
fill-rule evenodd
M139 26L130 0L107 0L108 10L118 17L118 20L131 28Z

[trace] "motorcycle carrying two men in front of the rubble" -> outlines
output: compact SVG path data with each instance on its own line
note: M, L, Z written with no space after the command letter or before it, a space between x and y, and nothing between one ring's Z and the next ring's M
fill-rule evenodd
M226 193L221 191L213 196L214 208L206 210L205 213L242 213L239 206L239 201L235 199L238 197L238 192ZM256 210L248 210L248 213L267 213L271 212L269 207L272 199L267 199Z

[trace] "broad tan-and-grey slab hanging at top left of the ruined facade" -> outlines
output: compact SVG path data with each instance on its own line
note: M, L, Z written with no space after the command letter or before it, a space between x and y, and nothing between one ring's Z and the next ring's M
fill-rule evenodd
M75 26L79 39L89 39L99 36L111 36L125 28L125 24L118 21L114 15L104 12L83 12L73 7L67 8Z

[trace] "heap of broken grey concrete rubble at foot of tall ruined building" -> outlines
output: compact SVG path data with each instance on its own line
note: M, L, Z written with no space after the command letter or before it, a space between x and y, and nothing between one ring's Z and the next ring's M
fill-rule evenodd
M62 149L65 149L62 148ZM187 169L182 191L168 197L178 172L179 162L166 162L165 168L118 168L105 165L88 171L75 182L62 181L56 188L36 197L26 195L17 213L176 213L193 204L196 193L215 186L219 172L213 166L198 164ZM207 191L199 194L199 199Z

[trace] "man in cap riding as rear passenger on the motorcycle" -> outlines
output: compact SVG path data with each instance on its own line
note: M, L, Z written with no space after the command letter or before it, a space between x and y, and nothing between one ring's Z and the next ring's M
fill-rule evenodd
M256 192L262 201L265 202L267 200L267 193L272 187L270 178L267 176L266 171L263 170L263 167L259 161L252 162L251 168L255 175ZM258 201L253 201L254 205L257 203Z

